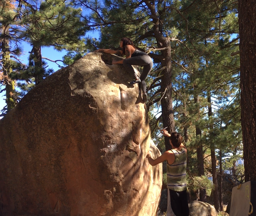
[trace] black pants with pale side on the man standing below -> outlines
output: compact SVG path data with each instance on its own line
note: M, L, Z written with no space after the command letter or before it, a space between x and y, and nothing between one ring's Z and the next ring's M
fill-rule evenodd
M187 203L187 190L177 192L168 189L170 192L172 211L176 216L189 216L189 205Z

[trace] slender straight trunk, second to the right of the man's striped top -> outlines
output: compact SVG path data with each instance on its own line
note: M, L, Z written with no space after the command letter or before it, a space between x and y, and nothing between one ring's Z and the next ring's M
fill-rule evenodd
M209 129L213 130L213 125L211 123L211 117L212 117L212 103L211 103L211 95L207 96L207 102L208 102L208 116L210 119L210 125ZM220 211L220 201L219 201L219 191L218 191L218 181L217 181L217 169L216 169L216 156L215 156L215 145L212 141L213 134L210 133L210 148L211 148L211 161L212 161L212 181L215 185L215 190L213 190L213 201L214 201L214 207L217 212Z

